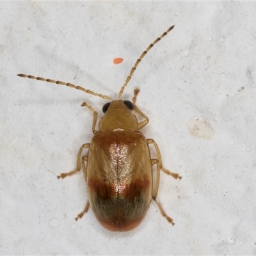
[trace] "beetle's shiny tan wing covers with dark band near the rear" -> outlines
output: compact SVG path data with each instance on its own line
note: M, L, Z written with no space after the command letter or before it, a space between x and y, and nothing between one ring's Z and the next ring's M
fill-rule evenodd
M88 152L86 184L90 207L103 227L137 227L152 199L152 165L141 132L98 132Z

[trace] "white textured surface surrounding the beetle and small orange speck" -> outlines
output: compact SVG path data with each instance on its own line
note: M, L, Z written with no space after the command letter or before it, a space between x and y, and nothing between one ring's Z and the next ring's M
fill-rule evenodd
M256 3L0 3L1 255L252 255L256 253ZM89 211L83 173L65 180L106 100L32 74L116 97L141 89L166 168L158 198L131 232ZM113 65L113 58L124 62ZM101 115L101 114L100 114Z

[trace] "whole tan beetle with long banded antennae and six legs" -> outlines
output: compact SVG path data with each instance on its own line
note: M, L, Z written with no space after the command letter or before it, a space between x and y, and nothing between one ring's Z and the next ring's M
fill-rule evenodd
M83 102L84 106L93 113L92 132L94 134L91 143L85 143L77 154L76 169L69 173L61 173L58 179L74 175L81 169L86 180L88 202L83 212L78 214L76 220L82 218L84 213L92 208L99 223L111 231L129 231L140 225L148 211L153 199L159 207L161 214L174 225L159 204L157 191L160 181L160 170L175 179L181 179L179 174L172 173L163 168L161 154L156 142L146 139L139 131L148 124L148 117L136 105L139 89L134 90L132 102L122 99L122 93L131 80L132 74L147 52L161 38L166 36L174 26L170 27L163 35L159 36L141 54L131 69L129 76L120 89L118 100L113 100L107 95L86 90L81 86L64 83L42 77L18 74L20 77L28 77L49 83L62 84L86 93L110 100L104 104L102 111L104 115L100 118L99 129L96 130L98 113L92 106ZM135 111L144 120L138 122L132 113ZM150 156L148 145L154 145L156 159ZM88 155L82 156L83 150L88 148ZM85 162L87 164L85 164ZM153 184L153 169L156 164L156 182ZM154 186L154 188L153 188Z

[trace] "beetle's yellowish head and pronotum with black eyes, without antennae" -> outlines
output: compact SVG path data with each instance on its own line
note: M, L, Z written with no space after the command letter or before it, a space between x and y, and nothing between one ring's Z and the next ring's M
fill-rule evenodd
M131 113L133 104L129 100L114 100L106 103L102 111L104 116L100 118L99 131L135 131L138 120Z

